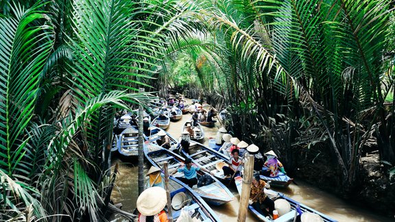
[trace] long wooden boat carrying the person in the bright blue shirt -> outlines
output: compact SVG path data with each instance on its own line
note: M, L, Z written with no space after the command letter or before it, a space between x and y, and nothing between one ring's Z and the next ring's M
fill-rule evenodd
M145 145L144 154L147 160L156 167L163 168L163 162L168 162L168 168L170 172L178 169L178 167L181 165L181 162L184 162L184 158L178 156L176 153L152 143ZM209 173L204 173L203 171L199 171L197 173L200 176L204 174L210 175ZM184 177L184 174L176 173L174 177ZM214 206L226 204L229 201L235 199L230 190L228 190L224 184L219 182L219 180L217 180L215 177L211 177L214 181L212 184L200 187L193 186L193 190L198 193L200 197L202 197L208 204ZM173 177L170 177L170 179L172 180Z

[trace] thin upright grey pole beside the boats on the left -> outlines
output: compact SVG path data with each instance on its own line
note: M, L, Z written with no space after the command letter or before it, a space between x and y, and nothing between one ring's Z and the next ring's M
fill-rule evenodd
M144 88L139 88L144 93ZM144 191L144 137L143 137L143 105L139 105L139 195Z

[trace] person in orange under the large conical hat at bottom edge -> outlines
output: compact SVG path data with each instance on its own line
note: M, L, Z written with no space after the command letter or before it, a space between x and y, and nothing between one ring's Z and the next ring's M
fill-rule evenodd
M159 186L147 188L137 198L139 211L138 222L168 222L165 208L167 204L166 190Z

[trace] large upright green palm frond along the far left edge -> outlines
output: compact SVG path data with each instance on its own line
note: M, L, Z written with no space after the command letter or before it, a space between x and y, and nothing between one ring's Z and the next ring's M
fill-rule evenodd
M53 46L53 29L37 8L15 5L14 16L0 18L0 169L12 177L27 172L21 164L26 128L32 119L41 71Z

